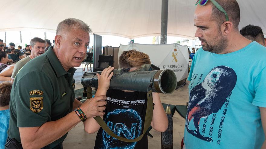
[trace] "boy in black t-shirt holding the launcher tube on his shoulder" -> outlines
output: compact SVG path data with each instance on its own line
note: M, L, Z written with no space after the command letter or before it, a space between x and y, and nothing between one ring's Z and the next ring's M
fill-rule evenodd
M129 50L123 51L118 60L119 68L137 70L143 64L151 64L147 54ZM106 95L107 104L105 114L101 116L107 126L116 135L127 139L137 138L143 133L145 113L147 109L147 92L127 91L111 89L110 79L113 76L114 67L105 68L98 76L98 89L95 96ZM168 119L162 106L159 93L153 93L153 117L151 126L158 132L164 132L168 127ZM138 142L124 142L107 134L94 118L88 118L84 122L84 130L88 133L98 131L94 149L102 148L130 148L148 149L148 136L145 132Z

